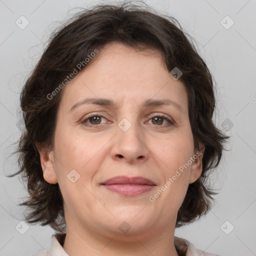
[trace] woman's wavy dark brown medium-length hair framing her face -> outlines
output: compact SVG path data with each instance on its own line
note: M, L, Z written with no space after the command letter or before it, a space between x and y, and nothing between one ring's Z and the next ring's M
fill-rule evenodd
M223 143L228 137L213 123L213 78L189 39L176 19L159 14L141 5L141 2L93 6L74 15L52 34L21 91L20 105L25 128L17 149L19 170L9 175L21 174L27 184L29 196L20 203L30 209L26 215L27 222L49 224L56 231L65 231L63 198L59 186L44 180L36 147L37 143L52 145L53 142L56 111L62 92L60 90L51 99L47 95L95 48L100 50L113 41L137 49L142 45L156 48L161 52L169 71L174 67L182 71L179 79L188 96L194 146L198 148L201 142L205 149L202 173L188 186L178 210L176 227L194 221L210 209L215 192L208 186L207 178L210 170L218 165Z

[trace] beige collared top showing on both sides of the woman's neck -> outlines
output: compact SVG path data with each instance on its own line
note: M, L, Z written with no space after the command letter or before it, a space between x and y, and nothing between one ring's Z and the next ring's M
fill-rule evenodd
M65 234L52 235L50 247L47 250L43 250L37 254L34 254L33 256L69 256L62 247L64 238ZM196 249L192 243L177 236L174 236L174 245L177 252L181 256L220 256Z

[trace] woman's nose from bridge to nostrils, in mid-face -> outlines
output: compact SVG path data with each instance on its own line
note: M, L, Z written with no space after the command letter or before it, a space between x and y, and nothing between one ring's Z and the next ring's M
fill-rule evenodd
M127 120L124 123L121 122L116 127L111 157L114 160L133 164L145 162L150 154L146 145L146 136L143 130L135 124L135 121L133 123L127 122ZM126 125L126 128L123 128L122 124ZM127 129L127 127L129 128Z

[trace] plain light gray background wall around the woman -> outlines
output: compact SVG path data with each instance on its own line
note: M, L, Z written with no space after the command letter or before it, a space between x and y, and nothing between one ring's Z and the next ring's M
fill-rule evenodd
M23 214L17 203L26 191L18 177L4 175L17 170L16 158L9 155L20 135L19 92L25 78L40 57L52 28L58 25L55 21L66 19L70 8L90 6L93 2L98 1L0 0L2 256L27 256L50 245L53 231L48 227L29 225L24 234L15 229L20 227ZM256 255L256 2L148 0L146 3L176 17L198 42L199 52L217 84L216 124L231 136L227 144L230 150L224 153L212 176L212 184L219 189L215 196L217 203L206 217L177 229L175 235L188 239L197 248L222 256ZM29 21L24 29L15 24L21 15ZM234 21L229 29L221 24L226 15ZM222 22L226 26L231 24L228 19ZM226 220L229 222L222 225ZM226 234L232 225L234 229ZM21 226L19 231L25 231L25 225Z

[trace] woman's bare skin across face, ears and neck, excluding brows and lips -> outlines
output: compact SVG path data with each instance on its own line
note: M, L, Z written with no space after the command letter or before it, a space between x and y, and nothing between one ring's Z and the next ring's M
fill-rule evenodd
M113 42L100 49L62 93L54 145L40 149L40 157L44 179L58 182L64 199L64 250L70 256L177 256L173 242L177 211L188 184L201 174L202 157L154 202L148 197L198 151L183 83L169 75L158 50L138 51ZM112 99L116 106L80 104L70 110L89 97ZM172 104L141 107L146 99L169 99L180 109ZM82 123L89 113L103 116L101 121L85 120L98 126ZM154 121L157 114L174 123ZM127 131L118 126L123 118L131 124ZM80 175L74 183L67 178L72 169ZM143 176L156 186L125 196L100 184L116 175ZM123 221L130 226L127 233L118 228Z

